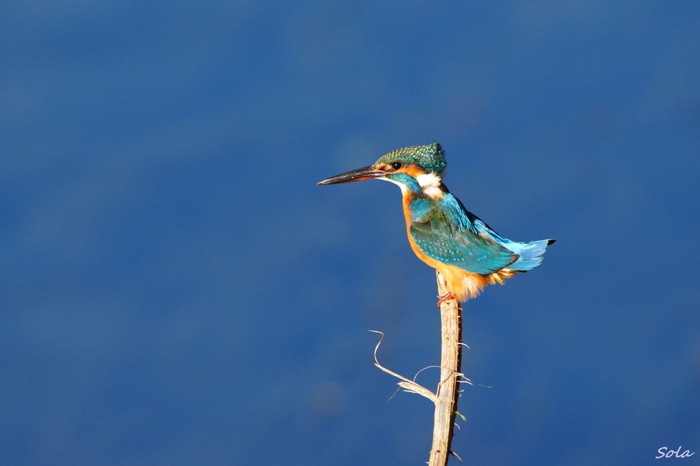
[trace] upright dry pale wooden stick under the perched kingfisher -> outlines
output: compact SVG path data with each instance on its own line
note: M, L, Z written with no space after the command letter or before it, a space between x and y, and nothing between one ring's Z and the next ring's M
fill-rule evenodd
M437 273L437 294L447 293L447 284ZM440 382L437 383L433 447L428 466L445 466L449 459L454 418L459 398L458 381L462 365L462 306L458 299L448 299L440 304L442 323L442 352L440 357Z

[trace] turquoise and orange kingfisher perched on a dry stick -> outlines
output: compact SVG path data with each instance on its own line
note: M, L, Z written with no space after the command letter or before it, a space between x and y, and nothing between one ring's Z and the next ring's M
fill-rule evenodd
M464 208L442 183L447 162L439 143L393 150L369 167L332 176L318 185L377 178L398 185L403 197L408 242L420 260L447 283L447 299L464 302L486 285L500 283L542 262L554 239L519 243L500 236Z

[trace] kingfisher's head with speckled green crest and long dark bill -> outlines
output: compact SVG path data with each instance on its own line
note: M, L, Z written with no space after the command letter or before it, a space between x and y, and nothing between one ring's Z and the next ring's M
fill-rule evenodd
M348 171L319 182L319 185L350 183L378 178L400 186L404 193L422 193L428 197L442 197L442 172L447 162L440 144L412 146L393 150L379 157L369 167Z

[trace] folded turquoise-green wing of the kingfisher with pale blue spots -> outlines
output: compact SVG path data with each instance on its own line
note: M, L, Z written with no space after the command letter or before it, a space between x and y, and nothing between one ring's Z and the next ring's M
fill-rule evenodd
M456 197L446 193L442 199L416 201L409 232L428 257L475 274L491 274L518 260L518 255L498 243L512 241L500 238Z

